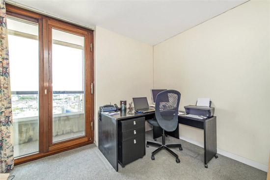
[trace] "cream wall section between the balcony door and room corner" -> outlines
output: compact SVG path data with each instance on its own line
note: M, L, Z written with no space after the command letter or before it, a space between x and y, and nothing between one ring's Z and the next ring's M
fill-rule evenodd
M153 46L96 26L95 143L98 144L99 106L133 97L147 97L153 88Z

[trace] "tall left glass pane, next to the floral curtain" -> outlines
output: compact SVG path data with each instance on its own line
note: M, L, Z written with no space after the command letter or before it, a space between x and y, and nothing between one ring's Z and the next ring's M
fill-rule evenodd
M39 152L38 25L7 18L7 28L14 156L19 157Z

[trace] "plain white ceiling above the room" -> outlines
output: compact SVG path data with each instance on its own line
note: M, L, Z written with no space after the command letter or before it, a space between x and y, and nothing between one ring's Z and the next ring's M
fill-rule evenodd
M156 45L247 0L6 0Z

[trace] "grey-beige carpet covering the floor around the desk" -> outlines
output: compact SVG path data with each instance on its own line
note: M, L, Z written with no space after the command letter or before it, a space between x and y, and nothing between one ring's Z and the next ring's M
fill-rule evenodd
M152 131L146 133L151 138ZM158 138L158 142L161 142ZM267 173L218 154L204 167L203 148L186 141L166 137L166 143L181 143L175 148L181 162L166 151L155 155L155 147L146 148L146 155L116 172L94 144L28 162L10 173L14 180L266 180Z

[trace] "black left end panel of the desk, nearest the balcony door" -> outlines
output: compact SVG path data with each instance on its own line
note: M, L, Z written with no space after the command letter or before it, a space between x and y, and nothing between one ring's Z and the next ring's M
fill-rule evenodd
M99 150L118 171L118 134L117 121L106 115L101 115L99 121Z

